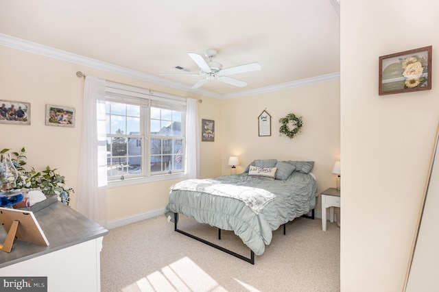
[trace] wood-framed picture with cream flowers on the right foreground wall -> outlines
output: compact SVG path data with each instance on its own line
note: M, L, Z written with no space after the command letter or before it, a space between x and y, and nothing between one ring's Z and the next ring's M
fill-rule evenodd
M431 46L379 57L379 95L431 90Z

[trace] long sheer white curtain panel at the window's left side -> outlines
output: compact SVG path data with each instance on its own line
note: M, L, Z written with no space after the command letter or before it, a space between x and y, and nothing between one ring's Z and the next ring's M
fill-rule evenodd
M86 76L83 109L77 209L88 219L106 227L105 80Z

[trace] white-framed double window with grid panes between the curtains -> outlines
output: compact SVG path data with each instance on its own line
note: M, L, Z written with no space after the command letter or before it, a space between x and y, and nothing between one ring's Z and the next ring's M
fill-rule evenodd
M108 82L108 180L184 173L185 115L185 99Z

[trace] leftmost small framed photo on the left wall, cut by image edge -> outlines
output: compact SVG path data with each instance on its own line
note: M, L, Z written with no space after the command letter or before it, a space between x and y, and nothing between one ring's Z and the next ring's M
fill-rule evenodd
M0 99L0 123L30 125L30 104Z

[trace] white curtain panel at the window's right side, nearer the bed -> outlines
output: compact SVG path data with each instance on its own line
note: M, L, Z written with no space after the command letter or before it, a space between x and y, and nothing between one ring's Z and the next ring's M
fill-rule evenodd
M187 99L186 106L186 174L187 179L200 177L200 129L198 100Z

